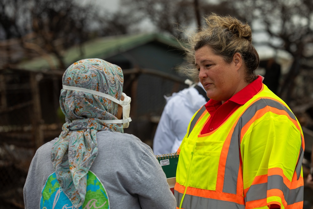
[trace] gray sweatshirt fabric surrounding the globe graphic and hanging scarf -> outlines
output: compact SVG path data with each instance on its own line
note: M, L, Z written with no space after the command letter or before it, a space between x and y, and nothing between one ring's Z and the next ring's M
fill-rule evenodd
M42 205L48 178L54 173L50 152L55 140L41 146L32 160L24 185L25 209ZM97 132L97 141L99 152L90 171L105 188L110 209L176 208L166 176L148 145L131 134L110 131Z

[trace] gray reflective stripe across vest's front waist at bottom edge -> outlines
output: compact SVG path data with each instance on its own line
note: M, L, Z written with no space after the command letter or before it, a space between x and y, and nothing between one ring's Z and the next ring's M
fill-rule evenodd
M180 200L183 194L178 191L174 191L176 198L176 206L179 207ZM205 197L198 197L185 194L184 201L182 203L184 209L208 209L208 208L231 208L231 209L244 209L245 205L241 205L235 202L215 200Z

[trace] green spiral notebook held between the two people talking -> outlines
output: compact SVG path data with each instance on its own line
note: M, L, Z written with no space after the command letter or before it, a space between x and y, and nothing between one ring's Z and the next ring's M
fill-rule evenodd
M179 154L177 153L156 155L156 159L159 161L166 175L167 183L173 193L176 183L176 169L178 164L178 157Z

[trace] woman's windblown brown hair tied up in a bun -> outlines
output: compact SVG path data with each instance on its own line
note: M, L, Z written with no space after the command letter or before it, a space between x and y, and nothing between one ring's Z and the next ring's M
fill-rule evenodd
M242 23L231 16L221 16L215 13L204 16L207 23L198 32L189 36L188 40L181 43L187 54L192 68L183 67L180 71L194 78L199 71L195 69L195 51L203 46L210 46L213 53L220 55L228 63L232 62L233 55L241 54L246 67L247 82L256 79L255 70L259 66L259 54L252 44L252 31L248 23Z

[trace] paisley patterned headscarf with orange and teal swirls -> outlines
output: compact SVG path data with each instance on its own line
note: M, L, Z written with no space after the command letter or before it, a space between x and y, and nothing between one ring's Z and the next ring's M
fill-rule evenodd
M62 84L109 94L120 100L123 72L117 65L100 59L75 62L64 72ZM73 90L61 90L60 107L65 115L62 132L51 150L51 161L61 188L74 207L85 200L87 173L98 154L96 133L123 133L116 120L118 104L104 97Z

